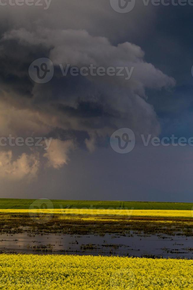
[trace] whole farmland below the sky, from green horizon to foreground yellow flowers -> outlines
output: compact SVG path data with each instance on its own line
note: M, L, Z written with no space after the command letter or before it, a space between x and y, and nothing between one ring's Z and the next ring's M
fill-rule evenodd
M7 240L8 243L12 241L12 249L19 245L20 249L27 252L30 247L29 244L26 245L27 237L22 240L27 233L29 242L33 243L30 250L40 251L40 242L34 245L36 241L38 243L40 237L43 239L45 236L45 241L41 242L42 251L52 253L52 255L36 255L29 252L28 254L10 254L10 252L4 254L2 246L0 289L193 289L192 247L188 248L188 245L184 245L185 241L193 236L192 205L158 202L0 199L2 241ZM100 247L107 249L107 246L109 253L112 253L113 247L113 251L117 251L123 246L120 242L112 244L109 241L108 244L102 241L101 244L95 245L96 242L89 244L87 241L91 234L104 236L109 233L128 239L126 244L128 257L122 257L126 256L125 254L120 255L121 257L117 254L109 257L91 256L92 253L84 252L87 249L95 251L95 248L100 249ZM176 254L189 251L190 260L184 257L183 259L152 259L153 255L132 258L130 256L133 256L131 244L134 233L141 239L144 235L161 237L163 243L168 235L170 239L175 235L183 236L185 239L181 246L183 249L179 246L180 242L174 244L171 241L174 249L168 249L168 253L163 257L171 257L169 254L172 251L177 251ZM56 235L54 242L56 244L61 235L74 236L68 245L69 248L60 244L64 249L62 255L55 254L48 247L48 237L53 234ZM20 240L17 240L19 239L17 235L18 237L21 235ZM78 243L80 235L86 237L85 244L79 248L83 255L71 255L71 247L75 247L73 245ZM63 243L62 239L60 243ZM176 250L177 247L179 251ZM14 253L18 253L20 249L16 248ZM67 253L70 255L66 255Z

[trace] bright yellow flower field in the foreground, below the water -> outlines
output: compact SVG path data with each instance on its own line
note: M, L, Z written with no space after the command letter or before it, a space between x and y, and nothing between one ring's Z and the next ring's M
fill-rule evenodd
M0 255L0 289L193 289L193 261Z

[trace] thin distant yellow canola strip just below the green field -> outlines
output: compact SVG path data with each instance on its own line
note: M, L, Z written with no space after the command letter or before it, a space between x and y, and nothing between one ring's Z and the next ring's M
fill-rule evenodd
M1 209L0 213L10 214L48 214L48 215L94 215L94 216L146 216L146 217L184 217L192 218L193 210L114 210L114 209Z

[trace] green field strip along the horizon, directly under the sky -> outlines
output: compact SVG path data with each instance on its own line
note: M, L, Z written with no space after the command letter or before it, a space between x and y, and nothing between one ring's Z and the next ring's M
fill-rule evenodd
M0 209L29 209L35 199L0 199ZM192 210L193 203L176 202L128 202L128 201L91 201L91 200L60 200L53 199L53 208L91 208L91 209L135 209L135 210ZM40 199L36 205L41 208L44 200ZM46 200L45 200L46 203ZM50 204L50 203L49 203Z

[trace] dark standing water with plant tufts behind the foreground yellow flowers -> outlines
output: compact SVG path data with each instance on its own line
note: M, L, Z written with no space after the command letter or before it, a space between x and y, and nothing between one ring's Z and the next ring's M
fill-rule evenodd
M15 233L0 235L1 253L92 254L193 258L193 239L185 236L119 234L70 235Z

